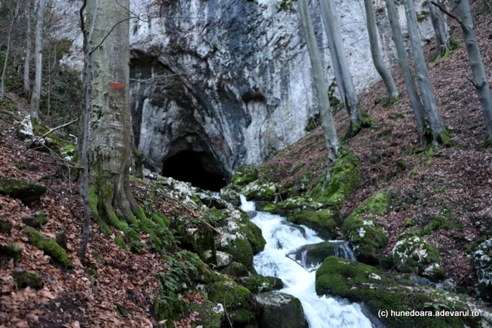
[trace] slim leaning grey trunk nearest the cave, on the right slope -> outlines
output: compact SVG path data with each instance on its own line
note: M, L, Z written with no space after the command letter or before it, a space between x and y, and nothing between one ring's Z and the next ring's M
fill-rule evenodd
M332 110L330 108L330 100L328 99L328 87L326 86L325 74L323 74L323 63L321 62L321 54L316 44L316 36L314 34L313 20L309 11L307 0L297 0L299 6L299 15L306 36L306 44L309 51L309 59L311 60L311 71L316 87L316 96L318 96L318 106L321 117L321 126L325 135L326 150L328 158L335 162L338 157L338 138L335 122L333 120Z

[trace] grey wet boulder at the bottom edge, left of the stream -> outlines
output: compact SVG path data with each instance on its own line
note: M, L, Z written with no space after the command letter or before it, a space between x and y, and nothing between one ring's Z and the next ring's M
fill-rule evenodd
M275 291L257 295L257 317L262 328L307 328L302 304L296 297Z

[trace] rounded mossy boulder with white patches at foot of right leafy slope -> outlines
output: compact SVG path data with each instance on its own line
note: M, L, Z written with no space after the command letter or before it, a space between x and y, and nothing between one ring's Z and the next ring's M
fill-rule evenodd
M402 273L423 275L430 280L444 279L439 250L423 237L413 236L399 240L391 251L395 268Z

